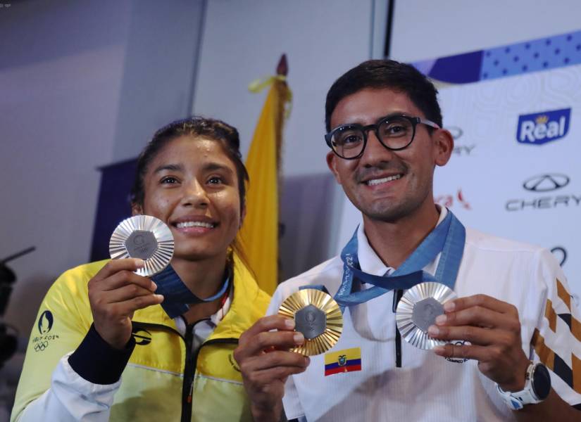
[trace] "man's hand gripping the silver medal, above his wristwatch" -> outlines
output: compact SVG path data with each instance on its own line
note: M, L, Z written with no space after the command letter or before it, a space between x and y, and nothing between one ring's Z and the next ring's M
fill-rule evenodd
M470 345L435 347L443 357L476 359L478 369L505 391L525 388L529 359L523 352L518 309L487 295L451 300L428 334L439 340L468 340Z

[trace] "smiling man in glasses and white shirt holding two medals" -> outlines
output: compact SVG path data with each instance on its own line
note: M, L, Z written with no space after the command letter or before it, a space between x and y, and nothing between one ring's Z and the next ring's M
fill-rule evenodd
M325 112L327 164L363 226L342 257L282 283L273 315L242 335L235 358L256 420L277 421L281 399L289 419L308 421L581 420L581 319L556 260L465 231L434 203L433 172L454 140L431 82L409 65L370 60L337 79ZM458 295L429 328L454 343L433 350L396 329L396 276L420 270ZM308 359L287 351L305 340L275 314L299 288L320 285L344 305L344 328L330 352ZM325 371L336 355L361 366Z

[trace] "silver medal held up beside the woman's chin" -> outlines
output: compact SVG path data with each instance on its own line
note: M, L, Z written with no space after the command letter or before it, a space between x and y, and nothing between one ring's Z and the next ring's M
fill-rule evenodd
M111 259L139 258L143 268L140 276L153 276L168 266L173 257L173 235L160 219L150 215L135 215L123 220L109 241Z

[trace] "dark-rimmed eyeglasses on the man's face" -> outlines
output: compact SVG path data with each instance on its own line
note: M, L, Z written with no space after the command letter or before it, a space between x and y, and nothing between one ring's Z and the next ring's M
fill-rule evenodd
M339 157L354 160L363 155L367 145L367 134L371 129L385 148L399 151L407 148L413 141L418 123L439 129L437 124L421 117L391 115L367 126L354 123L336 127L325 135L325 141Z

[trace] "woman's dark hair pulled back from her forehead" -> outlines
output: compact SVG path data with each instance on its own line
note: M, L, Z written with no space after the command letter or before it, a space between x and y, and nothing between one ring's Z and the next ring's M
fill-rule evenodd
M137 172L131 188L131 202L143 205L145 197L144 177L149 163L163 149L168 142L180 136L204 136L219 141L224 152L234 162L238 178L238 193L240 196L240 211L244 209L246 201L246 184L249 181L248 172L242 162L240 154L240 139L235 127L221 120L193 116L183 120L176 120L159 129L146 145L137 159Z

